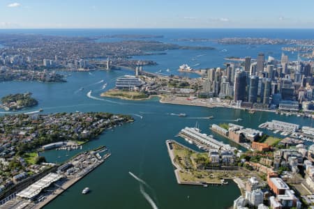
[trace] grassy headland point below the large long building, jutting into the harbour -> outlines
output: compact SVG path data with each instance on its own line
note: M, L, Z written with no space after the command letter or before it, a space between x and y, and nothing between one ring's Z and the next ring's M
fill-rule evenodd
M148 95L137 91L110 90L101 94L103 97L121 98L126 100L142 100L149 98Z

